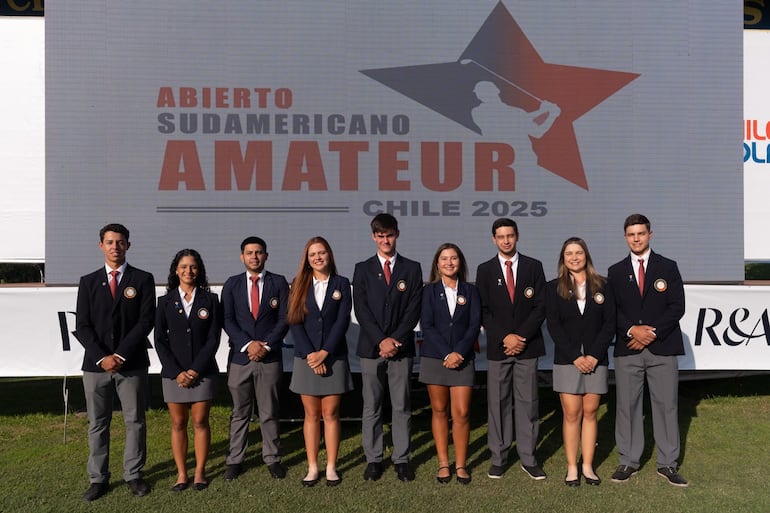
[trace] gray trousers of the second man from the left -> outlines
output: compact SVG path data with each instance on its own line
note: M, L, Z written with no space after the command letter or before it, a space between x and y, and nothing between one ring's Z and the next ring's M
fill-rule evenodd
M230 364L227 386L233 398L230 415L230 449L225 463L237 465L246 456L252 405L257 401L259 428L262 432L262 460L270 465L281 461L279 454L280 409L278 393L283 378L283 362Z

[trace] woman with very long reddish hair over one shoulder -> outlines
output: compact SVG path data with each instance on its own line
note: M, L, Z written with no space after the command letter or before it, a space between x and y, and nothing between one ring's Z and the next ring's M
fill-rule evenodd
M289 388L305 409L303 433L308 471L306 487L318 483L321 417L326 444L326 485L336 486L340 444L340 402L353 388L345 333L350 325L350 281L337 274L334 253L323 237L313 237L302 253L289 292L288 322L294 341L294 372Z

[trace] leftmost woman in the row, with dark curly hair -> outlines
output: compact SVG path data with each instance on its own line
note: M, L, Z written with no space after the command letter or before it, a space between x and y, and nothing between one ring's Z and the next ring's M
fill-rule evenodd
M222 330L219 300L209 291L206 267L194 249L171 262L167 294L158 299L155 349L162 364L163 398L171 415L171 451L177 468L172 490L187 488L187 422L192 412L195 446L193 488L204 490L211 445L209 411L219 368L215 355Z

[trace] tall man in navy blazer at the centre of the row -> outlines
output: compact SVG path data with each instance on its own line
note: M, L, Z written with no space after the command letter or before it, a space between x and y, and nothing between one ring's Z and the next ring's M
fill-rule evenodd
M366 456L364 479L382 476L382 404L385 387L392 406L391 460L401 481L413 481L409 467L411 378L414 328L420 320L422 268L396 253L398 221L377 214L371 221L377 254L356 264L353 308L360 325L356 354L363 382L362 444Z

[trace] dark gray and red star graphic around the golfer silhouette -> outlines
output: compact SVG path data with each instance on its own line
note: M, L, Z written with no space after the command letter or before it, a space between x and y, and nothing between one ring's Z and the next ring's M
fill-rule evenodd
M493 81L504 103L528 112L542 100L555 103L560 116L545 135L532 139L538 164L586 190L573 122L639 76L543 61L502 2L455 62L361 72L479 134L471 117L479 81Z

